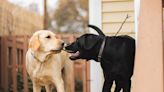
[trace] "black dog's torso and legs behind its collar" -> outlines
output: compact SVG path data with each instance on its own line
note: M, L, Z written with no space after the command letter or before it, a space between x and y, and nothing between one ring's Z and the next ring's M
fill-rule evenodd
M135 57L135 40L127 35L107 37L101 67L104 73L103 92L110 92L113 81L115 92L130 92Z

